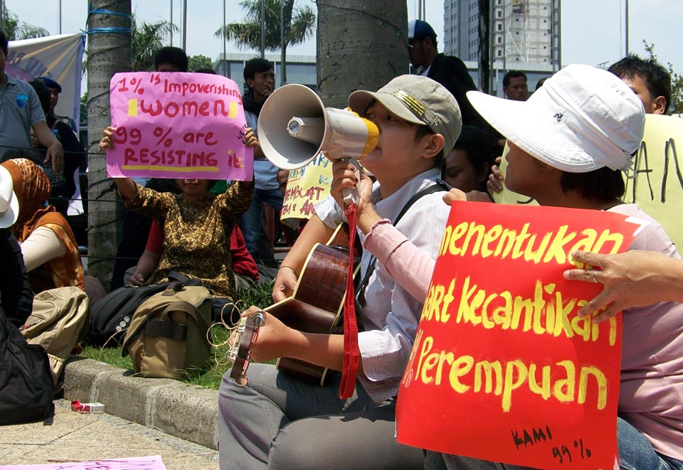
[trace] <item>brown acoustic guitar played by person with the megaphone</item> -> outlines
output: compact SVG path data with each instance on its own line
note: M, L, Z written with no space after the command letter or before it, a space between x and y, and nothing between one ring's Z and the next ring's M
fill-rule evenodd
M316 243L306 258L292 296L263 310L276 316L286 326L305 333L343 334L342 311L346 297L349 250L337 244L343 243L344 237L348 240L348 235L340 226L327 245ZM359 245L356 245L355 271L359 267L359 259ZM245 329L240 332L238 328L235 334L235 360L231 369L231 377L235 380L246 377L250 345L255 339L254 330L258 331L258 326L254 328L252 324L253 321L245 322ZM277 369L320 385L323 385L327 375L327 368L292 358L278 359Z

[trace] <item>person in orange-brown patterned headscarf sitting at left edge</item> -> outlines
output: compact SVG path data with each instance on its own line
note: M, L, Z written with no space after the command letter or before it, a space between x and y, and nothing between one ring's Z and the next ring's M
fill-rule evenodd
M12 159L1 165L12 176L19 206L12 233L21 243L33 292L65 286L85 290L75 235L55 206L45 207L51 186L43 169L27 159Z

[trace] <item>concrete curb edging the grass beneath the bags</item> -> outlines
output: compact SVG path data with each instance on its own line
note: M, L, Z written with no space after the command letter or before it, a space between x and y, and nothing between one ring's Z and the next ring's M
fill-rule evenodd
M64 397L100 402L110 415L218 449L218 390L130 374L98 360L71 356L64 372Z

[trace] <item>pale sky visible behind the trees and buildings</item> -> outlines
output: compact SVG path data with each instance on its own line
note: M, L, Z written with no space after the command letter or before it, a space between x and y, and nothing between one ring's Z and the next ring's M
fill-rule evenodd
M226 1L226 21L240 21L244 13L238 0ZM417 0L408 1L408 19L418 15ZM613 63L625 55L624 9L628 0L563 0L561 11L562 64ZM428 21L443 37L443 0L425 0ZM59 33L59 4L62 4L62 33L85 30L88 16L87 0L5 0L7 9L26 23L42 26L51 34ZM173 21L181 26L181 0L132 0L133 11L147 22L169 19L171 3ZM186 50L189 55L202 54L215 60L223 52L223 41L213 36L223 20L223 0L187 1ZM310 4L312 0L298 0L297 4ZM647 56L642 40L655 44L661 63L671 62L674 70L683 73L683 36L676 33L683 18L683 1L630 0L629 50ZM174 46L180 46L181 36L174 36ZM228 43L228 52L237 48ZM291 54L315 53L315 39L301 46L287 49Z

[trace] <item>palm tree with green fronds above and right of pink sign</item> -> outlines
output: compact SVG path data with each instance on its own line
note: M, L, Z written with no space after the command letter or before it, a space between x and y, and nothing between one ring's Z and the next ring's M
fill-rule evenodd
M230 23L216 31L216 36L235 41L241 49L260 49L261 45L261 3L264 2L265 49L280 50L280 2L282 4L282 24L284 42L282 56L287 46L300 44L313 36L315 13L309 6L297 6L295 0L242 0L240 6L246 10L242 23ZM282 64L282 83L287 81L285 64Z

